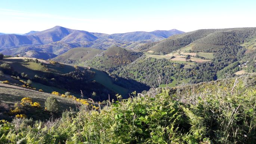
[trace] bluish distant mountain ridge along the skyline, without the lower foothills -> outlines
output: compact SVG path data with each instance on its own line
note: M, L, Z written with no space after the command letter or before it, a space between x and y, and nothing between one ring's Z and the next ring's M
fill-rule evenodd
M18 47L21 45L41 45L56 41L67 43L87 43L98 39L111 38L115 41L159 41L170 35L181 34L182 31L153 31L153 32L127 32L124 34L102 34L62 26L55 26L44 31L30 31L24 35L3 34L0 35L0 48Z

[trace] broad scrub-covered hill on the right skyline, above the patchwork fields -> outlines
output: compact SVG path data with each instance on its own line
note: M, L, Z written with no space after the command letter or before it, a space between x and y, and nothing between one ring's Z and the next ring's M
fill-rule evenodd
M190 44L191 50L213 52L215 48L224 48L225 45L242 43L249 37L254 37L256 28L229 28L229 29L200 29L173 35L151 46L144 46L146 50L171 53Z

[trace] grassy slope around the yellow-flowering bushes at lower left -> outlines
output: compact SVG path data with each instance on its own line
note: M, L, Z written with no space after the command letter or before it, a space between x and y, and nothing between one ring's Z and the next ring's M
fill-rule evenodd
M44 107L44 102L46 101L47 97L53 96L49 93L43 93L36 90L30 90L24 87L19 87L15 85L9 85L9 84L3 84L0 83L0 119L6 119L6 120L12 120L12 116L7 115L7 113L3 113L3 111L8 108L11 108L14 106L15 103L18 103L21 101L22 98L29 97L32 98L33 101L36 101L40 103L42 107ZM75 109L76 103L73 100L70 100L68 98L55 97L58 102L60 103L60 111L70 110L70 107L72 109ZM2 107L5 106L5 107ZM28 117L31 117L33 119L48 119L50 118L49 113L27 113ZM47 118L48 117L48 118Z

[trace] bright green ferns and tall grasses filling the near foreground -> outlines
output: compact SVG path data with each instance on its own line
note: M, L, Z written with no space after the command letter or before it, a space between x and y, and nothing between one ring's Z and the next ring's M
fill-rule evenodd
M62 113L47 122L1 120L1 143L255 142L255 76L151 89L103 109Z

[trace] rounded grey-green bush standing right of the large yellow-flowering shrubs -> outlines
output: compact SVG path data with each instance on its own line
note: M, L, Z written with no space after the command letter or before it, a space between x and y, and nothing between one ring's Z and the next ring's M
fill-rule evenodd
M59 111L59 102L58 100L53 97L53 96L50 96L46 99L45 101L45 108L49 111L49 112L58 112Z

